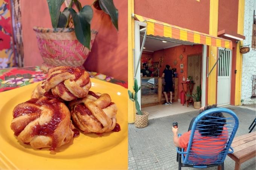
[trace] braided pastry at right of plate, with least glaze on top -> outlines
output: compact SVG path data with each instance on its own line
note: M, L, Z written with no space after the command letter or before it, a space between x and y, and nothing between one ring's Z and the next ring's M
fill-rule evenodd
M116 104L108 94L89 91L83 99L69 104L72 122L85 133L112 131L116 126Z

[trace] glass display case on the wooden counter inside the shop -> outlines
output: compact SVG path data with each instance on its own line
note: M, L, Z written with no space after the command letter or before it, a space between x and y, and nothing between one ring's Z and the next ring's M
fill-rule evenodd
M158 77L141 77L141 95L157 95Z

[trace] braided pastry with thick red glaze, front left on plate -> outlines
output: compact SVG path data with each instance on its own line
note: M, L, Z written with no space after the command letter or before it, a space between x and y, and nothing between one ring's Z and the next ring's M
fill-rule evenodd
M55 150L69 143L74 135L70 111L57 99L34 98L18 104L13 110L11 129L18 140L33 148Z

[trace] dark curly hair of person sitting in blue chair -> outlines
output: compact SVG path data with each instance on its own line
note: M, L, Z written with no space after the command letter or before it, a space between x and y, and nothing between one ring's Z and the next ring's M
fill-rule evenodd
M200 110L200 113L202 113L205 110L209 110L211 108L216 108L216 107L217 107L216 104L206 106L204 107L204 110ZM209 116L225 118L225 116L221 112L211 113L209 114ZM212 119L211 117L206 116L206 117L203 117L201 120L211 120L211 119ZM211 122L203 121L203 122L199 122L198 124L206 125L206 126L202 126L201 128L203 129L199 130L202 136L218 136L220 132L219 130L222 131L223 126L226 124L226 119L212 120Z

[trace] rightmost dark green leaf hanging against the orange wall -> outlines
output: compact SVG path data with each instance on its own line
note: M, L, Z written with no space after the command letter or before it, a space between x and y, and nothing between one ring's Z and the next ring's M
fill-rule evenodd
M110 16L113 25L118 30L118 10L114 6L113 0L99 0L99 6Z

